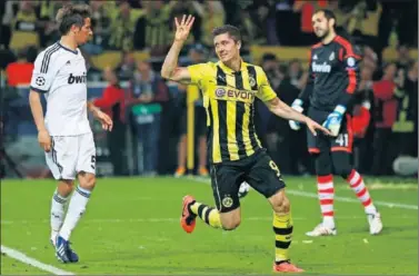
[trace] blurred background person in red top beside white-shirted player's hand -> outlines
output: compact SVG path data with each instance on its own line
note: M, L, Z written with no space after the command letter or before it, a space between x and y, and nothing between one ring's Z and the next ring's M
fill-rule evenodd
M112 131L107 132L110 159L114 176L127 175L126 150L126 92L120 87L116 72L107 68L103 70L103 79L108 81L102 97L94 99L94 106L101 108L113 121Z

